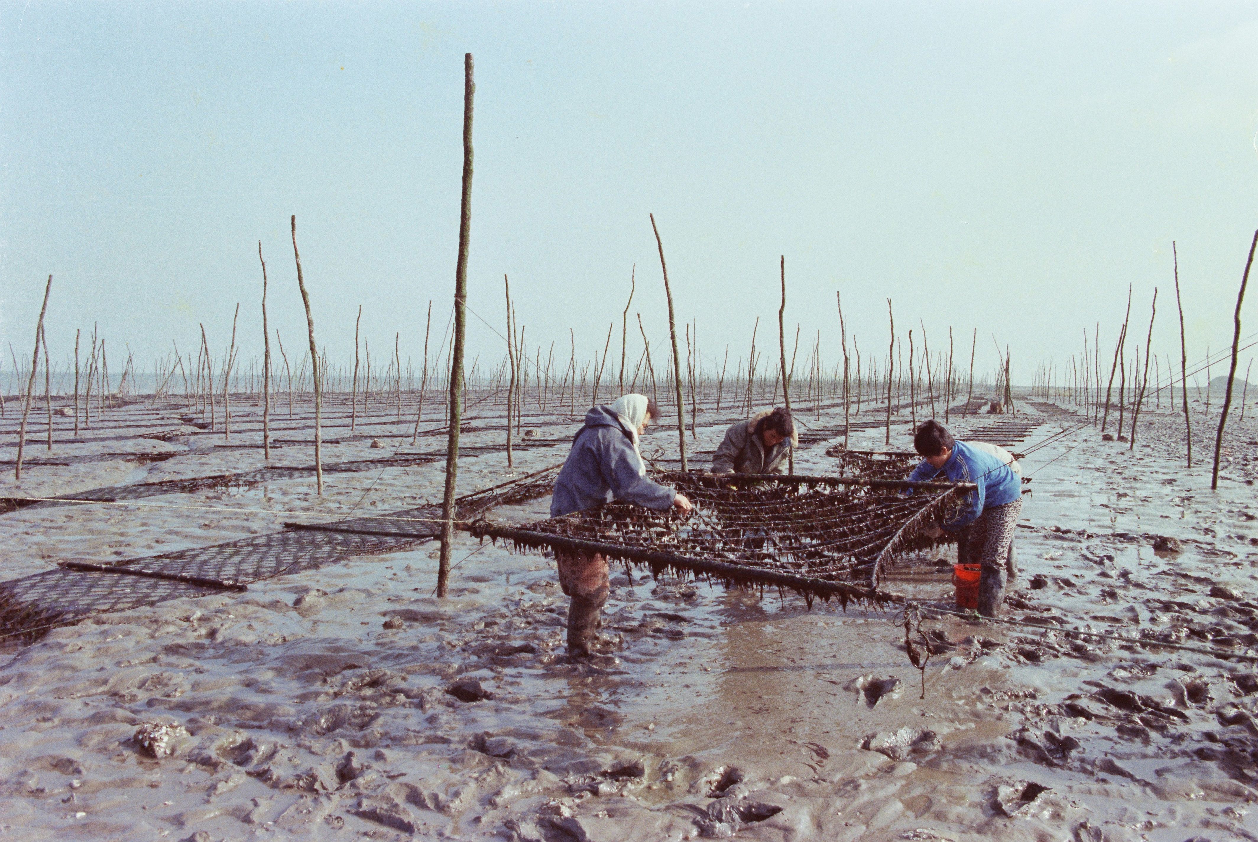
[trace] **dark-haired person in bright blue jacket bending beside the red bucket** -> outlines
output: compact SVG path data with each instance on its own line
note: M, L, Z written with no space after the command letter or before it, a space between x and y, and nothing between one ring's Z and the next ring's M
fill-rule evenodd
M944 521L944 527L961 532L966 559L982 568L979 613L998 617L1008 575L1005 561L1021 512L1021 480L998 454L957 442L935 419L917 428L913 448L923 458L908 474L910 480L946 480L977 486L964 497L961 510Z

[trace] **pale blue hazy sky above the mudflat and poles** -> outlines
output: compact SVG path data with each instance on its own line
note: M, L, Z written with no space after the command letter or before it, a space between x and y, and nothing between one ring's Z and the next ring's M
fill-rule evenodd
M399 335L418 361L454 292L468 52L469 359L504 354L504 274L530 356L589 360L614 325L615 359L633 277L663 359L649 214L708 366L757 317L772 349L781 257L800 359L818 331L842 359L839 292L863 355L891 298L906 351L951 327L964 357L976 331L980 369L1008 346L1028 380L1097 322L1112 349L1128 286L1132 336L1157 287L1154 350L1177 356L1172 240L1190 356L1230 342L1258 228L1252 3L5 1L3 370L48 274L55 366L93 326L141 368L201 325L221 354L238 302L259 354L259 240L269 323L302 347L291 215L328 356L352 361L361 305L374 356ZM1258 331L1258 291L1243 317Z

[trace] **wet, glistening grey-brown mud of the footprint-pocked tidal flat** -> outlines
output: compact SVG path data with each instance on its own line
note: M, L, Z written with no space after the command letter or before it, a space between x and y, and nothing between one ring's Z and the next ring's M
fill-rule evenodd
M1174 417L1152 423L1160 420L1174 438ZM1071 425L1045 418L1035 435ZM711 449L720 434L701 429L697 447ZM892 447L905 447L907 424L894 435ZM1211 495L1206 473L1184 471L1149 438L1150 447L1128 452L1084 429L1027 459L1034 493L1019 530L1023 574L1010 617L1243 651L1258 559L1252 487L1240 474ZM881 432L853 441L881 444ZM328 459L381 453L366 443L330 451ZM801 453L796 469L824 472L823 451ZM220 472L255 461L244 453L199 448L141 473ZM195 464L181 466L185 458ZM559 458L561 449L531 451L517 468ZM58 468L58 481L33 469L31 482L77 491L117 481L118 469ZM460 464L467 487L502 478L498 456ZM435 497L440 482L438 468L420 466L330 474L322 500L312 483L286 481L153 498L184 508L20 511L0 517L5 575L69 555L229 540L276 529L293 512L314 520L389 511ZM545 510L538 501L494 516L525 522ZM1184 549L1156 554L1160 535ZM454 593L439 602L430 595L434 549L102 615L33 646L10 644L0 667L0 832L1167 842L1258 834L1249 813L1258 798L1258 681L1235 662L928 619L938 651L923 700L889 612L809 612L775 593L620 569L603 652L572 663L550 560L460 536ZM920 559L892 587L946 605L947 576L931 561ZM1216 587L1232 593L1210 595ZM171 727L153 727L162 725Z

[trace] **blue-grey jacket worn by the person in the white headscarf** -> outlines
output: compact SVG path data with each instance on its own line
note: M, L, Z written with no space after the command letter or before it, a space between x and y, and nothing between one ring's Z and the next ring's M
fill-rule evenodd
M551 517L620 500L647 508L668 508L677 496L652 482L633 438L608 407L585 413L585 427L572 439L572 451L555 481Z

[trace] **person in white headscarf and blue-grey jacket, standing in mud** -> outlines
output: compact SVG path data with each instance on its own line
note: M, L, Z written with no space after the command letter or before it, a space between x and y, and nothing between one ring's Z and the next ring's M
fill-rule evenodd
M686 495L647 477L647 464L638 452L643 434L659 410L647 395L624 395L610 405L591 407L585 425L572 439L572 451L555 481L551 517L594 508L619 500L645 508L692 508ZM559 583L571 598L567 608L567 651L587 657L603 624L603 605L611 583L608 560L601 554L560 553Z

